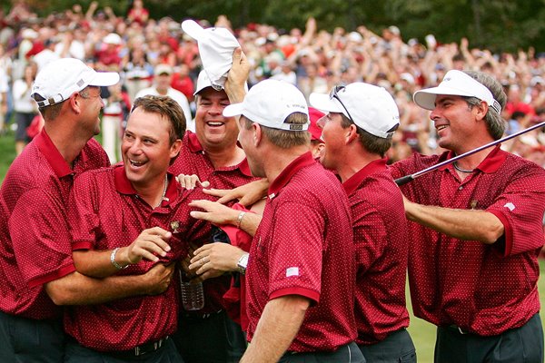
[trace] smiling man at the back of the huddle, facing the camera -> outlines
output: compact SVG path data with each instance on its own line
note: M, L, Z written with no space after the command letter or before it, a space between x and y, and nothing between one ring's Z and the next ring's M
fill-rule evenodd
M242 90L248 67L241 67L243 54L233 55L233 72L226 86ZM234 76L234 78L233 78ZM243 149L237 145L238 126L233 117L224 117L223 109L230 103L224 90L216 91L203 71L195 90L197 110L195 133L183 136L180 157L170 171L174 175L195 174L201 181L210 182L216 189L231 189L253 181ZM210 240L193 245L198 248ZM191 254L188 259L191 259ZM184 329L174 336L186 363L238 362L246 348L240 325L229 319L223 307L223 294L230 288L231 277L223 275L205 280L204 308L180 311L180 326Z

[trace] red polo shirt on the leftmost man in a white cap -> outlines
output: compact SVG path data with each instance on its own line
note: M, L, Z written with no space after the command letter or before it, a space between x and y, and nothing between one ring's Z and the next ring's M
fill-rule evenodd
M73 272L65 203L74 174L109 164L93 139L70 169L42 131L11 164L0 199L0 309L31 319L61 316L43 289Z

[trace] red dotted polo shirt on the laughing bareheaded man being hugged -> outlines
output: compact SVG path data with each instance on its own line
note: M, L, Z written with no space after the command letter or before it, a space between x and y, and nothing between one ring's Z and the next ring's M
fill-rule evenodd
M68 220L74 250L112 250L128 246L145 229L172 231L172 250L160 262L179 260L187 242L207 238L210 225L190 217L189 201L210 199L202 190L181 191L172 175L166 198L152 209L138 197L124 166L85 172L74 182ZM174 224L175 223L175 224ZM141 275L155 262L142 260L118 275ZM64 329L82 345L101 351L131 349L172 334L176 329L175 284L160 295L135 296L106 304L77 306L65 314Z

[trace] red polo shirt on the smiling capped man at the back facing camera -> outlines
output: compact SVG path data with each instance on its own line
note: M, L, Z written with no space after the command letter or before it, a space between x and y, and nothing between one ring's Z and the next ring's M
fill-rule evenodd
M174 175L195 174L201 181L210 182L210 187L216 189L233 189L257 179L252 176L246 159L237 165L214 169L213 163L204 152L196 133L190 131L185 132L180 155L176 158L169 171ZM209 241L202 240L197 245L201 246ZM204 308L199 310L198 314L224 309L223 294L230 288L230 285L231 277L228 275L205 280L203 282L205 294Z

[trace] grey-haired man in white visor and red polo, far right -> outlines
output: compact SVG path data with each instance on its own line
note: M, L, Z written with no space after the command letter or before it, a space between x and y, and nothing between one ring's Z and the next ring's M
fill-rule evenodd
M500 139L506 95L488 74L450 71L414 102L431 110L441 155L414 154L394 177ZM438 326L437 362L543 362L538 255L545 171L500 146L429 172L401 191L417 317Z

